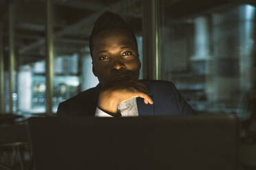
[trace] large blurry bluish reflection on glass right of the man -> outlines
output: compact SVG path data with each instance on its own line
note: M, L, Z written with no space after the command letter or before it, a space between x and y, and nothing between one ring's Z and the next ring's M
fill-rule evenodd
M198 112L250 114L255 7L238 5L200 16L164 19L162 79L170 80ZM168 9L165 9L168 10Z

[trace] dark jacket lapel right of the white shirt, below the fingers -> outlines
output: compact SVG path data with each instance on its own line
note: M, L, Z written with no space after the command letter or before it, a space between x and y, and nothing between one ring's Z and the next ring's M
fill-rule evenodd
M150 96L153 99L153 96ZM154 104L145 104L144 99L141 97L136 98L138 114L139 116L150 116L153 115L153 105Z

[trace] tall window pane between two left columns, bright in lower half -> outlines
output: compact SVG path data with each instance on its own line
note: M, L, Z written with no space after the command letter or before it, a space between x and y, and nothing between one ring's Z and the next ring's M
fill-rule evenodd
M17 112L45 112L45 1L17 1Z

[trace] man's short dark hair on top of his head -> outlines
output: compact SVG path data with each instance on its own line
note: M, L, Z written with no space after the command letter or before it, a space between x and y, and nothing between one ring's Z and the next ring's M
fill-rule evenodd
M94 49L94 45L93 45L94 36L96 36L96 34L103 31L104 29L115 29L115 28L126 29L127 31L129 31L136 43L136 47L138 46L134 32L129 28L129 26L127 25L127 23L125 23L125 21L121 18L121 16L113 12L106 11L98 17L98 19L94 23L94 27L92 29L91 35L89 36L89 51L91 53L91 56L92 56L92 51Z

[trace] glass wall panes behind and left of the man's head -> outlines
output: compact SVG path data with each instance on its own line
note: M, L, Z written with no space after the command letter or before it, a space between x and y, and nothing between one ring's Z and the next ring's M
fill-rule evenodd
M7 3L8 6L9 3ZM15 67L13 110L19 114L46 112L47 51L45 23L46 1L15 1L14 41ZM94 21L109 10L122 16L136 33L142 60L142 1L53 1L52 29L54 49L54 77L52 110L56 112L61 101L92 88L98 80L92 74L89 55L89 34ZM8 17L4 23L8 24ZM8 27L4 27L8 37ZM6 68L6 110L10 86L8 85L8 42L4 53ZM6 60L5 59L5 60ZM142 63L143 66L143 63ZM142 78L142 69L140 77Z

